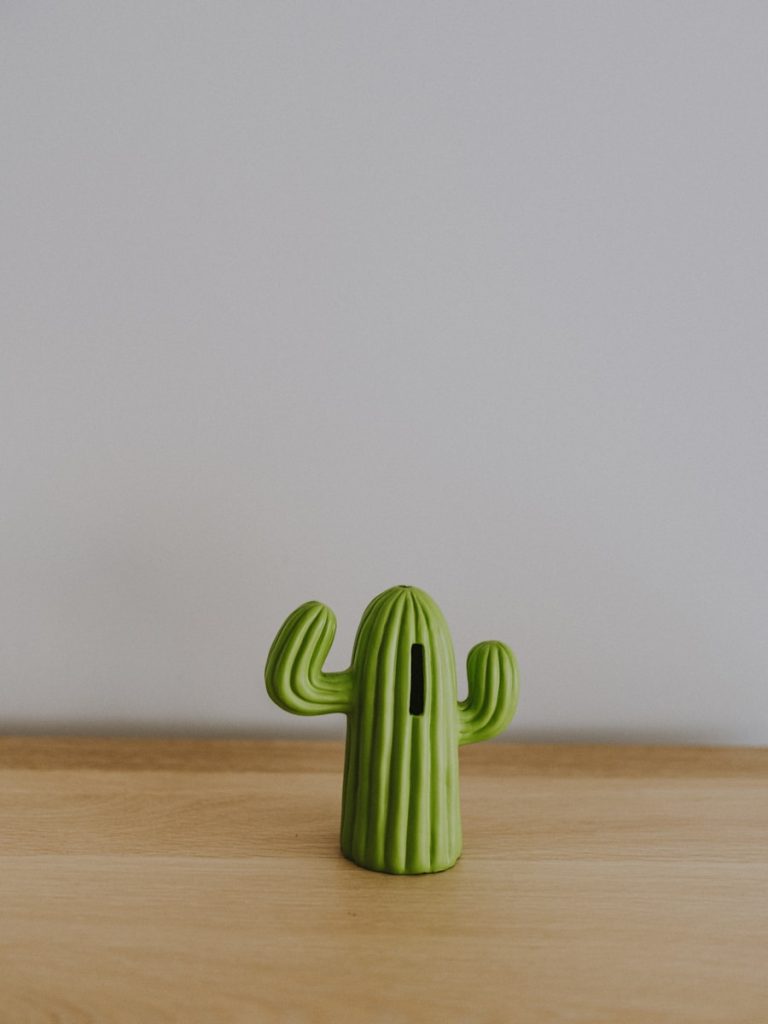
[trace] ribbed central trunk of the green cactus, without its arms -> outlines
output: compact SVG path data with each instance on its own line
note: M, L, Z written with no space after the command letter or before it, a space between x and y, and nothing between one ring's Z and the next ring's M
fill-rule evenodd
M440 871L461 853L456 667L442 615L429 603L411 588L382 595L352 657L359 685L347 723L341 849L380 871ZM412 714L417 644L423 711Z

